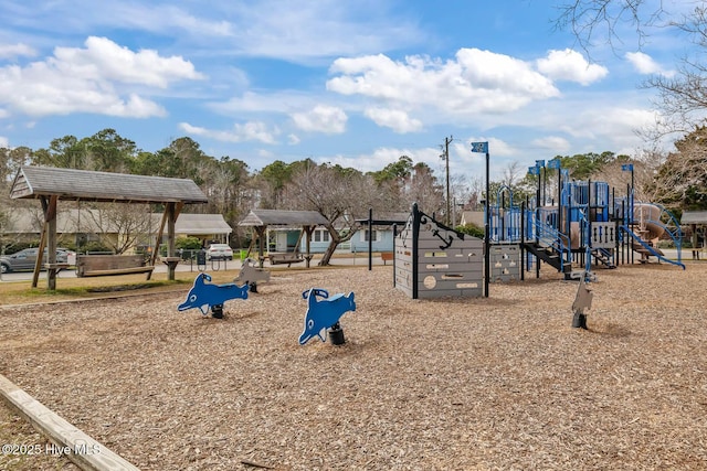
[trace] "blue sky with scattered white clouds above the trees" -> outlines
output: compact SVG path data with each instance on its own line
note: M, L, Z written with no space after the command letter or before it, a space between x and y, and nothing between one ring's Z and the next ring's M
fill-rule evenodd
M112 128L157 151L190 137L258 171L313 159L363 172L401 156L492 179L555 156L634 156L652 74L684 39L632 25L583 50L553 0L0 0L0 147ZM671 1L665 2L669 10ZM679 1L676 4L680 4ZM677 7L673 7L677 8Z

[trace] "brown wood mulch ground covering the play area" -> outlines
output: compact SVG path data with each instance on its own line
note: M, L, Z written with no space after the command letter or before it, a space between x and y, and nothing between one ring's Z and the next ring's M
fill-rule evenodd
M0 373L144 470L707 469L707 264L597 275L587 331L545 270L426 301L390 266L281 271L223 320L186 290L4 308ZM312 287L355 292L345 345L297 343Z

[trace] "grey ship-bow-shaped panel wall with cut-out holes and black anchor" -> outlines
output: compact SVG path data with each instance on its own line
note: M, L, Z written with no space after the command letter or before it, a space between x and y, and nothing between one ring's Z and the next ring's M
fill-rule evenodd
M394 251L395 287L413 299L483 295L484 242L446 227L416 205Z

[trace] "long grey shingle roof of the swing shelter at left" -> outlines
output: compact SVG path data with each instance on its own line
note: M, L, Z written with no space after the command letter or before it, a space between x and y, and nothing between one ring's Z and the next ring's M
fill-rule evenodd
M22 167L10 191L12 199L53 195L60 200L99 202L208 202L192 180L52 167Z

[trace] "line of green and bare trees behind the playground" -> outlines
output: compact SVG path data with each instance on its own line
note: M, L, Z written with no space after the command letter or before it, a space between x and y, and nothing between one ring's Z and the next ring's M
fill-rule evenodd
M642 158L618 156L610 151L574 156L555 156L561 167L576 180L601 180L620 189L626 188L629 174L622 172L632 163L636 193L640 199L662 203L668 208L707 208L707 129L696 128L676 142L676 151L667 156L651 153ZM548 162L546 161L546 162ZM234 228L232 243L243 246L250 234L239 229L238 223L251 208L317 211L328 221L331 245L323 263L328 264L336 246L349 239L358 229L356 220L367 217L369 208L376 214L409 212L412 203L441 221L454 224L452 217L461 211L482 210L485 200L481 176L453 176L452 207L445 214L444 175L435 174L426 163L401 156L381 170L361 172L338 164L316 163L312 159L294 162L276 160L260 171L229 157L214 158L204 153L189 137L175 139L156 152L139 149L114 129L78 139L65 136L54 139L48 148L0 148L0 228L8 226L13 207L23 204L9 199L9 186L22 165L48 165L105 172L130 173L193 180L208 196L207 205L189 211L222 214ZM555 171L542 172L544 186L552 194ZM514 201L536 197L538 179L518 162L511 162L503 175L489 183L495 203L499 188L509 188ZM4 221L4 223L3 223ZM3 231L0 231L0 237Z

